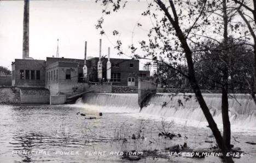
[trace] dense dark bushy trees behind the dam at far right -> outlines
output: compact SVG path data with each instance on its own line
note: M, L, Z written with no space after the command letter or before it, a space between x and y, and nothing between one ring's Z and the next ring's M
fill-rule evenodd
M210 39L203 40L211 50L197 51L196 77L203 89L221 89L222 74L219 73L222 60L219 58L221 44ZM249 92L247 81L253 78L253 49L244 40L229 37L229 92Z

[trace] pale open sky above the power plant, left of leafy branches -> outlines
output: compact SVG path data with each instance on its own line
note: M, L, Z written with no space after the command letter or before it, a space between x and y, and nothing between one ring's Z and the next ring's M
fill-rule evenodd
M147 29L136 26L138 22L151 26L148 18L141 15L147 3L129 1L125 9L105 15L106 36L101 36L95 24L103 16L103 6L95 0L30 1L30 57L45 60L55 56L59 38L60 57L84 59L85 41L87 56L98 57L99 39L102 39L103 55L107 55L110 47L110 57L127 59L131 56L128 45L147 38ZM8 69L14 59L22 59L23 10L24 1L0 1L0 66ZM113 36L114 30L120 36ZM126 55L119 56L114 50L117 39L122 40Z

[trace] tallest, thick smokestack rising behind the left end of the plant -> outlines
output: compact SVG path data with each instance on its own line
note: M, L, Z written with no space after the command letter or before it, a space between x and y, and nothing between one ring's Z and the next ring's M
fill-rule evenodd
M22 59L30 56L30 0L24 0Z

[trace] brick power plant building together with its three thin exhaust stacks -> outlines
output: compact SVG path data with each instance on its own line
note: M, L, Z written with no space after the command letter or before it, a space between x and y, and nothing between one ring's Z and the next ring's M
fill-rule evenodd
M100 40L101 47L101 40ZM101 48L100 48L101 49ZM110 50L109 50L110 51ZM110 92L109 86L138 86L138 77L149 77L148 71L139 71L139 60L92 57L67 59L31 57L15 59L12 66L12 85L19 88L45 88L50 95L72 96L90 89L94 92Z

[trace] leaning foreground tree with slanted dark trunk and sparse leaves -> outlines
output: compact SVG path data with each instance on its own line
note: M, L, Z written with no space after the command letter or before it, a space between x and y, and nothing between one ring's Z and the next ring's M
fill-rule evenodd
M97 1L96 1L97 2ZM102 1L104 6L112 6L113 11L117 11L121 7L121 1L105 0ZM148 9L144 11L144 16L150 16L155 21L153 28L150 29L148 36L148 43L145 40L140 42L141 49L146 52L143 57L136 54L136 49L134 45L130 45L132 53L137 58L152 57L153 61L158 61L159 63L165 64L168 67L174 69L175 71L187 77L191 88L195 93L195 97L200 104L203 114L208 121L210 129L213 132L216 142L219 148L223 152L223 156L226 162L233 162L230 156L226 154L229 152L229 147L227 147L224 139L218 130L217 124L213 120L209 108L202 96L200 87L198 85L193 60L193 50L191 49L191 42L188 42L189 34L194 31L199 31L200 27L207 25L207 15L206 15L206 4L208 7L214 6L214 1L212 3L207 1L164 1L154 0L153 3L148 4ZM123 7L125 7L123 4ZM179 13L177 13L176 7L179 7ZM183 11L181 7L184 7L186 11ZM154 11L152 11L153 9ZM105 8L103 13L110 14L110 10ZM97 28L101 28L103 18L98 21ZM189 22L189 25L185 24ZM141 24L138 24L141 26ZM201 30L200 30L201 31ZM114 33L114 32L113 32ZM116 32L115 32L116 33ZM101 31L104 34L104 31ZM117 41L116 49L120 50L119 54L123 54L121 51L121 41ZM177 65L182 60L187 61L187 71L177 68ZM225 93L225 92L224 92ZM228 126L230 129L230 126ZM229 144L229 142L227 143Z

